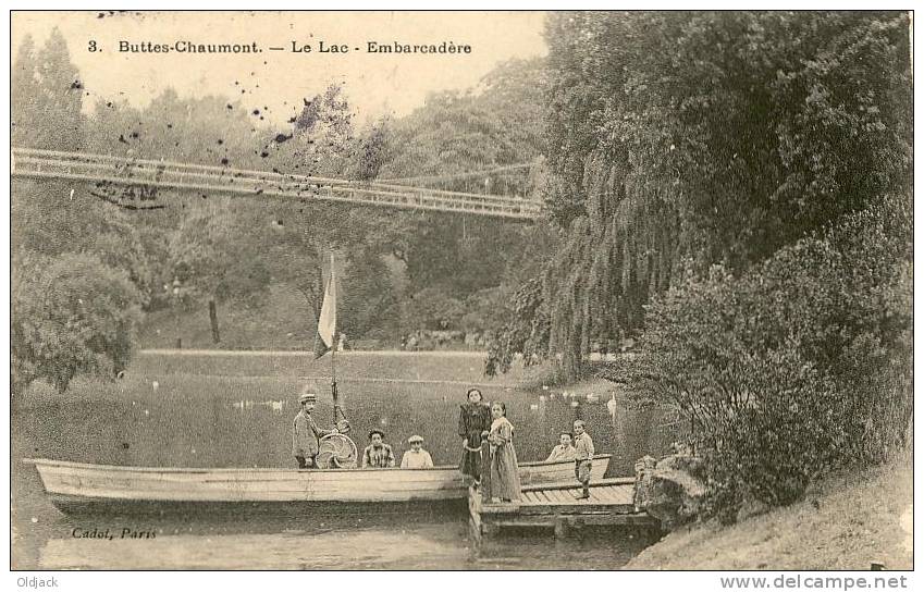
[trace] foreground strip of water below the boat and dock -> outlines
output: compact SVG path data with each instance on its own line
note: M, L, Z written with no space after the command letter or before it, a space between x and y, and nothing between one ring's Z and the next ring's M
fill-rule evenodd
M565 540L549 530L510 529L476 547L465 518L464 509L441 516L354 511L196 522L107 517L62 526L62 533L42 543L37 563L42 569L614 569L652 542L593 528ZM123 525L153 536L122 539ZM76 528L109 529L114 536L69 535Z

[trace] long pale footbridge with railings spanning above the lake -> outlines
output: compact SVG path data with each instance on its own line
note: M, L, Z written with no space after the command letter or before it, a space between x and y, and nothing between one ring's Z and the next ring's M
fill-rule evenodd
M486 171L528 169L514 164ZM120 207L144 210L167 207L159 189L202 195L266 196L313 199L356 206L466 213L529 222L542 215L542 205L525 197L449 192L420 186L440 177L346 181L308 175L249 171L83 152L14 148L11 174L19 178L57 178L90 184L94 195ZM459 176L479 176L476 171ZM445 177L444 177L445 178Z

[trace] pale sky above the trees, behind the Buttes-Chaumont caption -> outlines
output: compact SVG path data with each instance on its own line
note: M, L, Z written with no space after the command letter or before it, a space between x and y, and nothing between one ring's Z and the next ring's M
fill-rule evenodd
M207 95L259 108L283 123L301 99L343 83L359 121L402 116L429 92L466 89L497 63L546 53L540 12L13 12L11 57L27 34L41 47L53 27L67 40L86 95L144 107L164 89L181 97ZM91 45L95 41L94 45ZM172 46L256 42L261 53L120 52L120 41ZM345 45L346 53L321 53ZM468 45L468 54L368 53L367 42ZM293 52L310 46L310 52ZM284 51L272 51L282 47ZM95 48L96 51L90 51ZM358 51L357 51L358 48ZM263 109L268 107L269 109Z

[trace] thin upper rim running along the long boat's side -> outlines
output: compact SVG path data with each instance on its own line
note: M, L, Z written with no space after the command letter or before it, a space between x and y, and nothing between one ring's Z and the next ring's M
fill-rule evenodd
M611 460L613 457L612 454L600 454L593 457L593 460ZM318 472L331 472L331 473L340 473L344 472L358 472L358 471L446 471L453 470L457 471L457 465L442 465L440 467L426 467L426 468L401 468L401 467L356 467L352 469L292 469L292 468L272 468L272 467L217 467L217 468L201 468L201 467L132 467L132 466L121 466L121 465L94 465L89 462L75 462L73 460L52 460L50 458L23 458L23 464L34 465L36 468L39 466L45 467L61 467L61 468L72 468L72 469L84 469L84 470L107 470L107 471L125 471L125 472L145 472L145 473L186 473L186 474L208 474L208 473L241 473L241 472L289 472L295 474L300 473L318 473ZM533 460L529 462L519 462L517 466L519 468L529 468L529 467L555 467L556 465L574 465L574 460L554 460L547 462L545 460Z

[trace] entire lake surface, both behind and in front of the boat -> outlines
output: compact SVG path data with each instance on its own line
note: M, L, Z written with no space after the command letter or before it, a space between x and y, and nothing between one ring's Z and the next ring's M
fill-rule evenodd
M316 418L332 406L329 361L305 356L140 356L111 384L77 381L64 395L36 387L13 403L13 566L19 569L616 569L651 541L589 529L555 541L551 532L502 535L472 548L464 508L412 511L348 506L306 516L73 517L44 494L35 470L44 457L160 467L294 467L291 423L305 383L318 386ZM515 386L521 374L489 382L476 355L338 356L342 404L357 446L385 431L398 458L418 433L438 465L457 464L458 405L469 384L504 400L521 460L545 458L559 430L588 422L607 477L631 474L644 454L669 440L653 411L617 408L609 395L564 396ZM75 534L109 529L114 540ZM123 529L153 538L121 539Z

